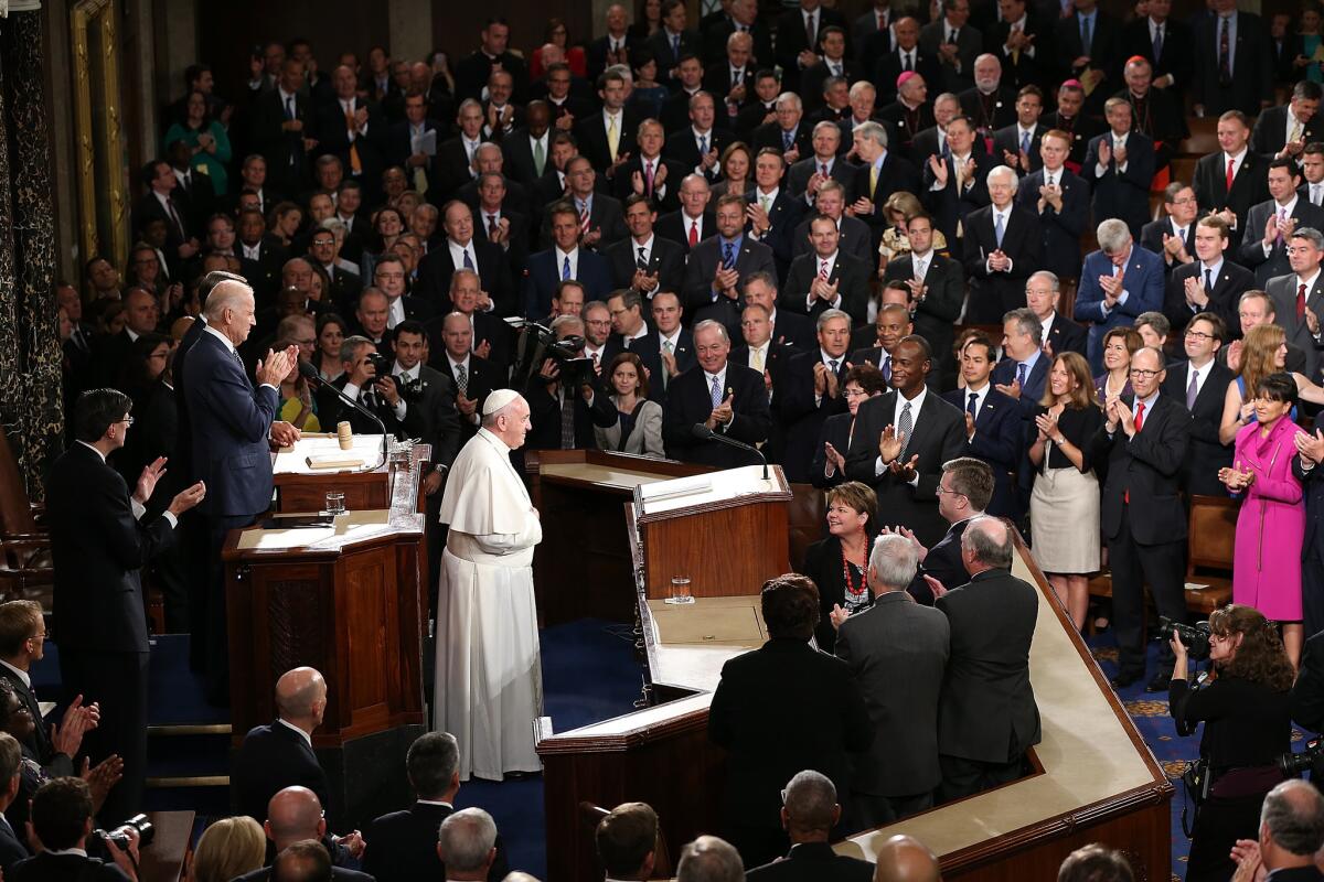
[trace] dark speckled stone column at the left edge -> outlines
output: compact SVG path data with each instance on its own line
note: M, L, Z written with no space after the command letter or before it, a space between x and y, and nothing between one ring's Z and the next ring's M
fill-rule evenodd
M17 431L15 452L33 500L44 497L40 476L60 452L64 427L41 21L40 9L16 12L12 4L0 22L0 97L12 134L0 141L0 198L9 201L0 214L12 218L9 271L0 264L0 414Z

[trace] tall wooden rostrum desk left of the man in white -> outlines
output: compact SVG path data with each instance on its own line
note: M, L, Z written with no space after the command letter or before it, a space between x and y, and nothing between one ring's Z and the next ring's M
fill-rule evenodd
M233 746L275 718L282 673L320 670L327 709L312 746L331 779L324 808L338 825L367 824L410 799L404 755L425 723L418 485L426 456L416 446L409 463L372 472L380 487L371 492L388 508L350 505L331 526L281 529L275 517L233 530L222 553Z

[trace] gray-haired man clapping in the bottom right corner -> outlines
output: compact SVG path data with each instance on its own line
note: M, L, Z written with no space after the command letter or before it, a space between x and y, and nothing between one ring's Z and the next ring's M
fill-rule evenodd
M1324 879L1315 866L1315 853L1324 846L1324 796L1315 784L1288 779L1264 796L1259 809L1259 840L1237 840L1233 858L1241 867L1235 878L1258 878L1268 871L1275 882Z

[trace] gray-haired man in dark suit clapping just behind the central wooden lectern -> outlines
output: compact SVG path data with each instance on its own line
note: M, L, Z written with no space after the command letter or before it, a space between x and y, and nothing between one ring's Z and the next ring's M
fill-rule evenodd
M667 455L686 463L733 468L759 461L753 454L718 440L695 438L703 424L745 444L768 440L772 415L768 393L757 370L727 361L731 337L718 321L694 325L699 370L687 370L667 390L663 438Z

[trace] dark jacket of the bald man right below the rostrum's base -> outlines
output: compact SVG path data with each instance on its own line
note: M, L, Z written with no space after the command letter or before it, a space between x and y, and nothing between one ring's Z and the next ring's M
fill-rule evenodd
M244 737L230 766L234 808L258 822L266 820L266 805L286 787L307 787L318 795L327 816L331 787L316 754L303 737L277 719L254 726Z

